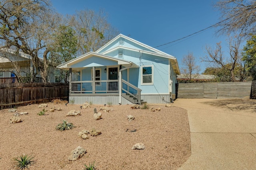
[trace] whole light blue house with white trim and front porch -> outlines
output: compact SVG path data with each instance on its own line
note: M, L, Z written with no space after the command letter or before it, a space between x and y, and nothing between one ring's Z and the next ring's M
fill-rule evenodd
M75 104L171 102L180 74L175 57L122 34L57 68L79 75L70 81L69 99Z

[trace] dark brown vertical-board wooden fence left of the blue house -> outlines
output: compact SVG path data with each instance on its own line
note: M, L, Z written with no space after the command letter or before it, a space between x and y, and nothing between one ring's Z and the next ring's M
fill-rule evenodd
M6 83L0 84L0 109L68 100L68 83Z

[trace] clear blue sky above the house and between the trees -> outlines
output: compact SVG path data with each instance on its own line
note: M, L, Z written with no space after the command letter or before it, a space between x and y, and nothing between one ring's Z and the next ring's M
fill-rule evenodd
M220 14L213 8L218 0L51 0L61 14L74 14L76 10L104 9L108 22L120 33L129 35L151 47L163 45L214 25ZM205 46L214 47L222 41L227 51L225 37L217 37L215 28L207 29L189 38L157 47L178 59L182 68L182 57L193 53L201 72L207 67L200 61Z

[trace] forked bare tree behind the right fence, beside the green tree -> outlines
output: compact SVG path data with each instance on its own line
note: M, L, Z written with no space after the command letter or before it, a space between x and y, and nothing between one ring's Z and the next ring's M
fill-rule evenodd
M229 70L231 74L231 81L236 81L234 70L238 62L242 59L241 51L239 49L241 43L241 36L229 36L229 57L224 56L221 43L216 43L216 48L212 49L210 46L206 46L207 56L202 61L217 64L226 70Z

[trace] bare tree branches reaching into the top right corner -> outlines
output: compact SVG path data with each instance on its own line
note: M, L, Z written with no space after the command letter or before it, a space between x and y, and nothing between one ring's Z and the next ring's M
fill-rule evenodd
M222 13L219 33L256 33L255 0L219 0L215 7Z

